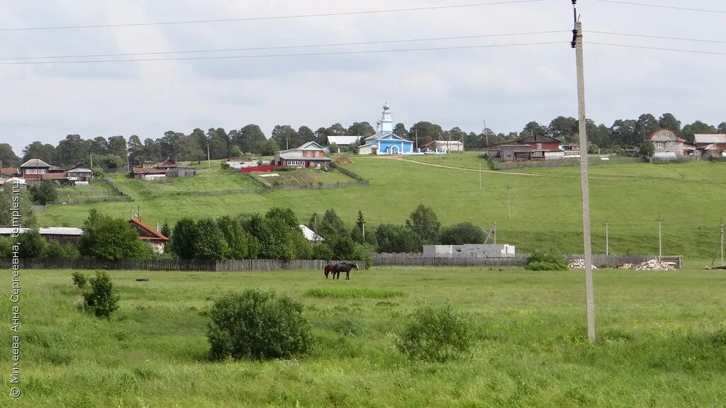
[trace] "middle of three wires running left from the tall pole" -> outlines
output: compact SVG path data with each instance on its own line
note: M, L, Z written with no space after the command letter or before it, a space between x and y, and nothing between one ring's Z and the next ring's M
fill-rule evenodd
M294 49L294 48L314 48L314 47L319 47L319 46L397 44L397 43L420 42L420 41L449 41L449 40L462 40L462 39L471 39L471 38L530 36L530 35L534 35L534 34L552 34L552 33L569 33L569 30L533 31L533 32L529 32L529 33L483 34L481 36L457 36L457 37L436 37L436 38L412 38L412 39L404 39L404 40L362 41L362 42L354 42L354 43L255 46L255 47L249 47L249 48L196 49L196 50L184 50L184 51L160 51L160 52L127 52L127 53L120 53L120 54L54 55L54 56L47 56L47 57L3 57L3 58L0 58L0 60L41 60L41 59L49 59L49 58L129 57L131 55L163 55L163 54L195 54L195 53L205 53L205 52L262 51L265 49Z

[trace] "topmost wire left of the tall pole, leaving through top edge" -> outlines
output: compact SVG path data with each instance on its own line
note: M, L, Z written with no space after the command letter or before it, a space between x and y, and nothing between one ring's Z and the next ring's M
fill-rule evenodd
M25 27L25 28L0 28L0 31L31 31L31 30L68 30L74 28L110 28L110 27L140 27L146 25L181 25L181 24L199 24L199 23L229 23L234 21L259 21L259 20L287 20L294 18L306 18L306 17L333 17L341 15L370 15L378 13L392 13L392 12L418 12L424 10L439 10L439 9L462 9L467 7L484 7L484 6L498 6L503 4L519 4L519 3L535 3L544 0L507 0L507 1L496 1L491 3L473 3L473 4L458 4L449 6L431 6L431 7L411 7L403 9L383 9L383 10L364 10L360 12L332 12L332 13L317 13L309 15L283 15L283 16L271 16L271 17L242 17L242 18L222 18L216 20L187 20L187 21L166 21L162 23L120 23L120 24L95 24L95 25L57 25L52 27Z

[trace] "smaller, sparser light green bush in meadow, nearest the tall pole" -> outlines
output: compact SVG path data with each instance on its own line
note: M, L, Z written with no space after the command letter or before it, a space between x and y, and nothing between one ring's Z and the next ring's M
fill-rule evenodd
M396 347L411 359L446 362L471 355L474 330L468 315L426 304L412 314L396 338Z

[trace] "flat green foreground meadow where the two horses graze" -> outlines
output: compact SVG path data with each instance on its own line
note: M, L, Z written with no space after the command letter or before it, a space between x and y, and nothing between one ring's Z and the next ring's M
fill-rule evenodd
M21 272L19 399L1 407L723 407L726 272L598 270L598 342L585 340L582 272L374 268L110 272L121 309L78 311L71 271ZM149 282L134 282L147 277ZM208 361L211 303L227 290L301 301L300 359ZM421 301L476 320L470 360L414 363L394 333ZM2 310L10 322L9 307ZM2 361L11 372L9 330Z

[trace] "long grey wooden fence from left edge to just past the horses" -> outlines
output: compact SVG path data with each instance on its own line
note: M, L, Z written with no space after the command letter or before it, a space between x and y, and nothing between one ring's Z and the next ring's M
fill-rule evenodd
M342 261L321 261L293 259L240 259L227 261L205 261L200 259L124 259L121 261L99 261L92 258L80 259L21 259L22 269L106 269L106 270L139 270L139 271L278 271L283 269L322 269L327 264ZM360 269L365 268L364 261L354 261ZM0 259L0 269L12 268L12 260Z

